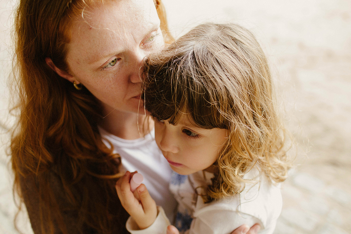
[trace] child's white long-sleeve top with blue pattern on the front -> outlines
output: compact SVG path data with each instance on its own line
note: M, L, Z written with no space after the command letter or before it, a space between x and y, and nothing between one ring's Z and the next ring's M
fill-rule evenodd
M239 226L259 223L259 233L273 233L278 216L282 210L280 186L273 183L257 169L246 173L244 190L234 196L210 203L204 203L198 194L203 186L211 183L212 173L200 171L191 175L172 174L170 190L179 205L174 225L180 233L186 234L229 234ZM158 216L148 228L139 230L130 217L126 227L132 234L166 234L170 224L161 207Z

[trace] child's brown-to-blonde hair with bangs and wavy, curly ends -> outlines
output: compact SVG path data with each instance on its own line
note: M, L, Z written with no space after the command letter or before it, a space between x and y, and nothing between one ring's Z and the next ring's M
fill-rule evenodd
M247 29L199 25L150 55L145 71L142 96L152 116L176 124L186 113L201 128L229 130L205 201L241 192L256 163L272 181L285 180L290 164L269 66Z

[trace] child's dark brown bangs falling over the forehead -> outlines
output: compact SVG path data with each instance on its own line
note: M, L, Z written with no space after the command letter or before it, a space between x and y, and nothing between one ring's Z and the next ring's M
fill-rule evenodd
M193 60L190 55L170 60L170 64L157 70L149 66L144 90L145 108L155 118L174 125L187 115L201 128L227 128L227 121L220 114L218 96L208 85L212 78L201 74Z

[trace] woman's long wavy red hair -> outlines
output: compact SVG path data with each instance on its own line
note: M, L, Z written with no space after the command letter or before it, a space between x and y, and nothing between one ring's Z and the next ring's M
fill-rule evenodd
M128 214L114 189L120 158L101 140L98 100L77 91L45 62L68 71L70 24L93 0L21 0L15 16L18 124L11 140L14 190L38 233L126 233ZM155 2L165 40L164 7ZM18 112L17 112L18 111ZM29 199L33 195L35 199ZM36 204L29 200L37 200ZM67 217L72 216L72 220ZM33 216L32 216L33 217Z

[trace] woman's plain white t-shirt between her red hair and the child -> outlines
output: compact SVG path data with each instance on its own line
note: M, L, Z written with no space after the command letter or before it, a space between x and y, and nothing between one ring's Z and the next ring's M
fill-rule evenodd
M167 217L173 220L177 201L169 190L172 169L155 142L155 132L143 138L125 140L99 128L102 139L110 141L114 153L122 159L122 166L130 172L138 171L144 176L144 185L158 206L162 206ZM106 141L104 143L110 147Z

